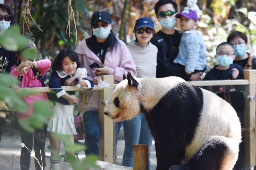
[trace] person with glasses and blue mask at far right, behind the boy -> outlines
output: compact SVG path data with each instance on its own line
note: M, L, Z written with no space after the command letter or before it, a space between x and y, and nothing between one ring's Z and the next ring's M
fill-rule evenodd
M233 31L229 34L227 42L232 44L235 50L234 55L236 55L236 58L233 63L240 65L244 70L256 69L255 58L246 52L247 36L245 33Z

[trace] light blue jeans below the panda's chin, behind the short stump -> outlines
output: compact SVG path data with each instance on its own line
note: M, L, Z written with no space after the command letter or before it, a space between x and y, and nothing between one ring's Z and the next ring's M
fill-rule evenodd
M125 135L125 151L123 166L132 167L133 145L148 145L148 169L150 169L150 150L153 137L144 114L131 120L123 121Z

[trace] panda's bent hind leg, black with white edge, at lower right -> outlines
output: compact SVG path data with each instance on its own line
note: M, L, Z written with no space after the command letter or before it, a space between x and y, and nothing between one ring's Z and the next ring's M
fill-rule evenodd
M171 170L232 170L238 158L239 141L224 136L208 139L183 165Z

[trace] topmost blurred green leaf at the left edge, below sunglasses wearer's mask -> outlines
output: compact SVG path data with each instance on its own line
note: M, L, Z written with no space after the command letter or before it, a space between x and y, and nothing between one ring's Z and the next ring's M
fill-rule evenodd
M28 45L28 39L20 34L18 26L13 25L0 32L0 45L8 51L17 51Z

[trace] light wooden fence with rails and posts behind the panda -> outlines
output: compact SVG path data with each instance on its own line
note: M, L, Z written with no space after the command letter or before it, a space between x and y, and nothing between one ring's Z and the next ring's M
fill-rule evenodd
M245 167L255 166L255 75L256 70L245 70L245 80L220 80L220 81L190 81L188 83L196 86L216 86L216 85L245 85ZM109 87L100 88L95 86L90 88L77 88L71 86L62 86L66 91L87 91L97 90L99 94L99 120L100 120L100 136L99 136L99 156L102 161L115 163L115 130L114 122L103 112L111 99L111 94L117 84L114 84L113 75L104 75L103 81L110 84ZM27 88L38 92L51 91L48 87ZM248 99L247 99L248 98ZM142 159L141 159L142 160ZM144 159L143 159L144 160ZM136 165L134 165L136 166ZM136 167L134 167L136 168Z

